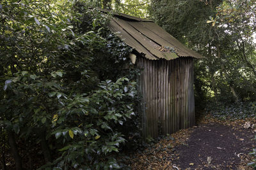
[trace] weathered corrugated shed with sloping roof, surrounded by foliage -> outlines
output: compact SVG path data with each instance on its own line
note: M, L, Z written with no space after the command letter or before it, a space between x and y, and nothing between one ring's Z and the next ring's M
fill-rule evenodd
M130 58L141 69L138 85L144 138L195 125L193 58L203 56L152 20L114 14L109 29L134 49Z

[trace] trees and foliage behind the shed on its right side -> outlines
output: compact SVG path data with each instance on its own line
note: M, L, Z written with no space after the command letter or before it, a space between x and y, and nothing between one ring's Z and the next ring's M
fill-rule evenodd
M205 56L195 64L198 104L256 100L254 0L153 2L154 20Z

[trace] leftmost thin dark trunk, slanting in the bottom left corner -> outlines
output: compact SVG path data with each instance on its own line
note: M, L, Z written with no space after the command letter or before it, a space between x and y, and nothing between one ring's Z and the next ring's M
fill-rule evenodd
M15 136L11 130L7 130L7 134L8 134L8 142L10 145L10 150L13 155L13 159L15 160L16 170L22 170L22 159L20 157L17 143L15 141Z

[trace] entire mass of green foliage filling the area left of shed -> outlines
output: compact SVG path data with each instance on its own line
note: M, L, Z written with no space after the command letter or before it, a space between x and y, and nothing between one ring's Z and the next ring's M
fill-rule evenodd
M120 168L113 152L140 135L136 70L109 16L70 1L4 0L0 11L3 169L8 150L16 169Z

